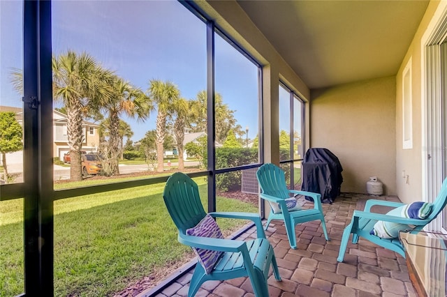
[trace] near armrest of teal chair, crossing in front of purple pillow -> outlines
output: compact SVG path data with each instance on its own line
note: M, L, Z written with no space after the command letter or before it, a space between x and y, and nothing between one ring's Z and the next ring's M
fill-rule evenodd
M231 239L191 236L182 233L179 233L178 241L179 243L189 245L193 248L218 250L221 252L240 252L243 250L243 247L247 245L245 241L234 241Z

